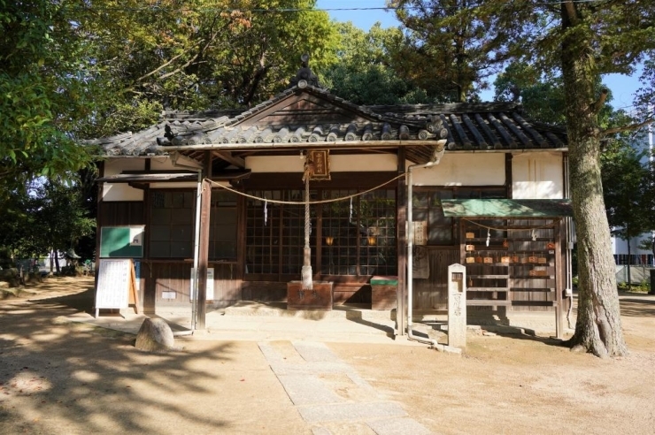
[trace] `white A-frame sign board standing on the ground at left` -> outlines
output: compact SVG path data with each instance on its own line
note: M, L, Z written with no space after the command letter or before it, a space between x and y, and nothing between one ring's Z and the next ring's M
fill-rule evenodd
M135 306L139 313L136 293L135 264L131 259L101 259L96 283L96 318L100 309L127 309Z

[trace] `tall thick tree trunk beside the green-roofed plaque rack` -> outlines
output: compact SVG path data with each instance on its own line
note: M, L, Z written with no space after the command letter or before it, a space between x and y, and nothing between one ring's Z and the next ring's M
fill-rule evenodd
M594 355L626 355L620 323L610 227L600 177L600 138L594 84L598 73L590 48L586 4L564 2L562 75L566 90L571 194L578 240L579 298L574 336L569 344Z

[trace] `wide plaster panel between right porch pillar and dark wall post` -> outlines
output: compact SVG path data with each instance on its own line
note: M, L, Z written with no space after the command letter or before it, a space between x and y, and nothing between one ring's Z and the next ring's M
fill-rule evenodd
M409 167L410 164L407 164ZM414 186L502 186L505 154L446 153L439 164L412 170Z

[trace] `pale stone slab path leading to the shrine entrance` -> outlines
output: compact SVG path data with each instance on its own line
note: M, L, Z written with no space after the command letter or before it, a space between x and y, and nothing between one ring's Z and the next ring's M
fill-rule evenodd
M262 341L258 346L314 435L432 433L375 391L326 344Z

